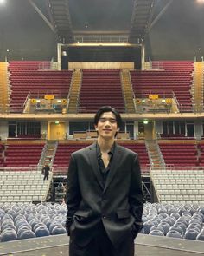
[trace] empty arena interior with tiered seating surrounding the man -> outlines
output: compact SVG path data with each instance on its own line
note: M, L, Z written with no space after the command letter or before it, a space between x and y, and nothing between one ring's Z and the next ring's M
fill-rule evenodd
M113 145L139 159L134 255L204 255L203 13L204 0L0 0L1 256L92 256L69 251L68 170L98 145L103 106L122 117Z

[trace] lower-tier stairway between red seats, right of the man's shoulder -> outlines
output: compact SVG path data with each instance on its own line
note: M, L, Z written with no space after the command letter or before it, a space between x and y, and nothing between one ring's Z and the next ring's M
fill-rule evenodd
M160 151L159 145L156 140L146 140L146 148L148 149L148 155L150 159L151 168L163 169L165 168L165 162L163 161L163 155Z

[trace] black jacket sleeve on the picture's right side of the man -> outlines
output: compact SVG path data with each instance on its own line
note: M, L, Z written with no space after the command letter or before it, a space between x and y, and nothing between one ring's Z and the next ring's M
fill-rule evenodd
M131 214L135 218L135 222L132 226L132 233L134 238L137 236L137 233L143 228L143 189L142 189L142 178L141 178L141 170L140 164L138 160L138 155L136 154L132 173L131 173L131 187L129 194L129 203L130 203L130 211Z

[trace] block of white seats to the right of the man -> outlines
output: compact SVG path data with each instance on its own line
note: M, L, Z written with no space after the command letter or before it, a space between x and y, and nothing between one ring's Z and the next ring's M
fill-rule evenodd
M150 176L160 202L204 206L203 170L151 170Z

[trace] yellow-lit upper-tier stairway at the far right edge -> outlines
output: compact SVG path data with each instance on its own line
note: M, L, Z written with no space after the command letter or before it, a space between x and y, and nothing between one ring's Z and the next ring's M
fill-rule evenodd
M204 62L194 62L193 106L194 112L203 111Z

